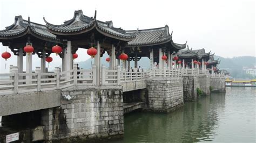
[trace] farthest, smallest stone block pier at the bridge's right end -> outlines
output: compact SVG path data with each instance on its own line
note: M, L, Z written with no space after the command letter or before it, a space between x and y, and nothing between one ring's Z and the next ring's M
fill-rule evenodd
M225 78L224 77L210 77L210 86L212 91L225 92Z

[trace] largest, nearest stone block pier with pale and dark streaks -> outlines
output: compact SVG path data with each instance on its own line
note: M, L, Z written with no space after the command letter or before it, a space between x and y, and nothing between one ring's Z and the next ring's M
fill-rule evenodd
M67 96L71 99L66 99ZM49 140L52 138L52 140L63 139L73 142L122 135L124 133L122 89L120 87L65 89L62 91L60 107L53 109L52 115L49 123L52 125L49 126L48 131ZM50 119L51 112L46 113L45 118L47 116Z

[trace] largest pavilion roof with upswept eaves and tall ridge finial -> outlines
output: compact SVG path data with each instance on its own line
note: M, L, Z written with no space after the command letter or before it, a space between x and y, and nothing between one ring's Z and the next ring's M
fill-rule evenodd
M112 21L97 20L96 13L95 11L95 16L92 18L83 15L82 10L75 11L73 18L65 21L62 25L50 24L46 22L45 18L44 21L49 31L56 35L76 35L96 29L99 33L118 40L130 41L135 38L134 34L126 33L122 28L113 27Z

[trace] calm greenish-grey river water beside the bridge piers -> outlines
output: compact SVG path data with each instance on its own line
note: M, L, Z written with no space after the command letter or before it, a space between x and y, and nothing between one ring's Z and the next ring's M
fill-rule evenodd
M256 88L227 87L171 113L133 112L118 142L255 142Z

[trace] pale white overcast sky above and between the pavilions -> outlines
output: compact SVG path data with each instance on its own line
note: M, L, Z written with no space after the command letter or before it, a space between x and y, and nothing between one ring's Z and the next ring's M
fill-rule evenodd
M97 19L112 20L114 27L124 30L169 26L173 40L179 44L188 41L193 49L205 48L225 58L255 56L255 2L254 1L11 1L0 2L0 30L14 23L15 16L23 19L30 16L31 22L45 24L43 16L52 24L62 24L73 17L75 10ZM24 41L25 42L25 41ZM0 52L5 47L0 44ZM8 49L10 52L10 50ZM89 58L79 49L76 61ZM83 55L83 56L82 56ZM51 55L50 66L61 65L58 56ZM24 58L25 60L25 58ZM33 55L33 68L40 66L39 58ZM1 67L7 63L17 65L12 55L8 62L2 58ZM23 62L25 63L25 61ZM24 67L25 68L25 67ZM1 68L0 72L6 71Z

